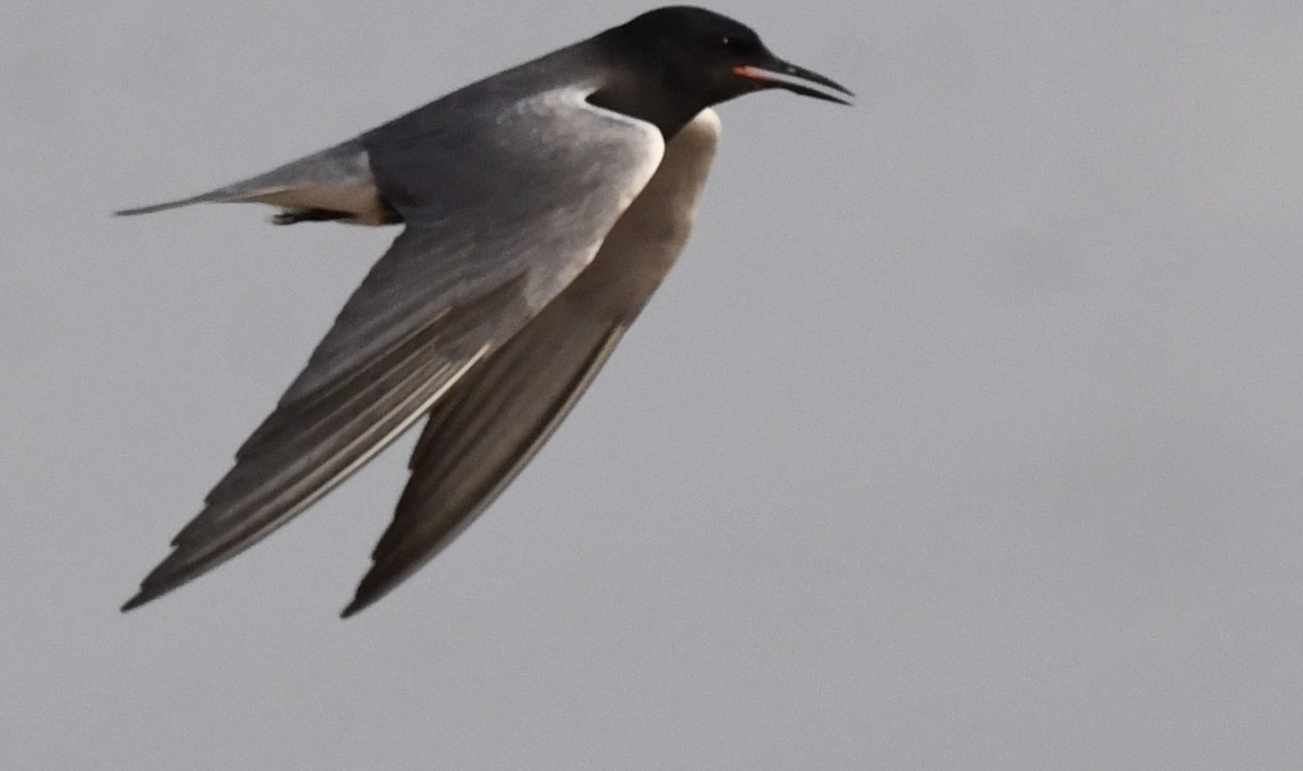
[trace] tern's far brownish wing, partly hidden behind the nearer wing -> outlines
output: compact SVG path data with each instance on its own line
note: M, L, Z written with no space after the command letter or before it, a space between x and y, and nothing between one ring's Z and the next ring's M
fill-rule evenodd
M344 616L451 543L556 430L687 242L718 137L709 109L679 132L593 263L435 404L394 522Z

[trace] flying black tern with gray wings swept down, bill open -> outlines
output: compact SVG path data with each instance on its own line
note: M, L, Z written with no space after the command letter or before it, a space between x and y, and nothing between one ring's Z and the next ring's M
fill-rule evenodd
M122 610L249 548L429 415L343 615L414 573L538 452L674 264L711 105L766 89L852 96L731 18L661 8L265 175L117 212L258 202L279 224L405 225Z

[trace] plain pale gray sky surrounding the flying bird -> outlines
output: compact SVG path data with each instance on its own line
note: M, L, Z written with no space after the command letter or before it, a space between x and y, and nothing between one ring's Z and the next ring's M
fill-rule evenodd
M133 220L631 3L8 0L0 767L1303 767L1303 4L719 3L724 105L547 449L364 615L408 442L129 616L392 231Z

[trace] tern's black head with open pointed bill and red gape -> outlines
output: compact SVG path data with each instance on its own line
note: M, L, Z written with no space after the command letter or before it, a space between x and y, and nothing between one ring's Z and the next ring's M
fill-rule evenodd
M672 137L698 112L764 89L850 104L840 85L774 56L744 23L704 8L649 10L595 38L619 76L594 104L654 122Z

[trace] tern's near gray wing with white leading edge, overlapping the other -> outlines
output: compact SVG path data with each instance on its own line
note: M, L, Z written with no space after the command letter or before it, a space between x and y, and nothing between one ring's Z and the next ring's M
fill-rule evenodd
M414 142L369 148L377 182L408 228L124 610L284 525L429 410L592 260L659 164L663 143L650 125L586 107L585 95L558 90L523 100L481 121L478 142L413 137L425 139L426 171L439 175L433 182L448 188L401 176L396 160ZM512 173L494 173L503 168ZM472 177L481 181L460 185Z

